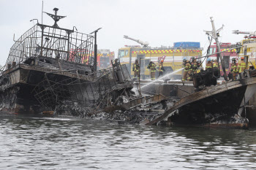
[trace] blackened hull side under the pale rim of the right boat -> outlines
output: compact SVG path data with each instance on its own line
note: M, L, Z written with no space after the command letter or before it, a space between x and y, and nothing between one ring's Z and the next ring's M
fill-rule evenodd
M243 86L186 104L169 121L180 125L247 127L247 120L237 115L245 91Z

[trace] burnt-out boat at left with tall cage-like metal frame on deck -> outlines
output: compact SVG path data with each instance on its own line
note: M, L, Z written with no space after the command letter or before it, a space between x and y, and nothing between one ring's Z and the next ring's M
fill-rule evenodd
M53 26L37 23L12 45L1 68L1 111L53 112L70 104L92 112L121 94L132 96L126 66L116 60L111 68L96 70L99 29L91 35L75 26L60 28L57 22L64 16L57 15L58 10L53 9L54 15L45 12L53 18Z

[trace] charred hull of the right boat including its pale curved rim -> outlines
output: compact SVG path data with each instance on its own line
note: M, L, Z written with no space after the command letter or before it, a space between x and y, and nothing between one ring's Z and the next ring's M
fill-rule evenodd
M164 123L169 125L247 127L248 120L244 112L244 104L249 101L249 96L255 93L255 83L256 78L250 77L192 93L181 98L163 115L147 125Z

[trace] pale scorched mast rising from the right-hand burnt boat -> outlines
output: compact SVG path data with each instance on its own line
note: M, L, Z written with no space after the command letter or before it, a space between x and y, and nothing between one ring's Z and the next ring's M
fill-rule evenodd
M212 31L206 31L206 34L211 34L211 36L215 39L215 42L216 42L216 45L217 45L217 61L218 61L218 65L219 65L219 58L220 58L220 61L222 63L222 70L224 72L224 79L227 81L227 73L226 73L226 69L225 69L225 63L223 61L223 58L222 58L222 53L221 50L220 50L220 45L219 45L219 31L222 30L222 28L219 28L217 31L216 31L216 28L215 28L215 25L214 25L214 20L212 19L211 17L211 26L212 26Z

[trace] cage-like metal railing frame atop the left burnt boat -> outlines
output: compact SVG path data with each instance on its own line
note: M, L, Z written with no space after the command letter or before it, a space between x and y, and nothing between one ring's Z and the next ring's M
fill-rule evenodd
M37 23L12 45L1 72L38 56L93 65L93 42L89 34Z

